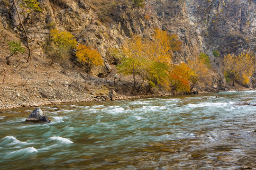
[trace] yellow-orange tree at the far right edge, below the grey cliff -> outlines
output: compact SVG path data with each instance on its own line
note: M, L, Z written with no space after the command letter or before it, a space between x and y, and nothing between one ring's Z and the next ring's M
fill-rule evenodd
M233 86L235 81L240 81L244 85L250 81L250 76L255 71L255 58L253 55L241 53L240 55L228 54L223 59L224 76L233 78Z

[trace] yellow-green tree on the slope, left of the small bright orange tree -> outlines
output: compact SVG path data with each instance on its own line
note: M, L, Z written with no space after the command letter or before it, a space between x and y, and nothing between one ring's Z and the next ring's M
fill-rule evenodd
M50 42L46 45L45 51L52 59L50 65L56 61L62 61L69 56L69 52L76 47L74 36L67 31L50 31Z

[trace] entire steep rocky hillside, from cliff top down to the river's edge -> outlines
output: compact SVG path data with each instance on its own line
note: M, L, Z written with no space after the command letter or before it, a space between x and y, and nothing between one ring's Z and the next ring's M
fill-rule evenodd
M38 0L41 12L22 15L31 38L30 45L38 52L33 52L27 68L18 67L11 73L25 57L23 54L15 55L10 58L11 64L6 64L5 58L10 54L7 43L19 41L24 34L20 28L12 28L18 24L18 18L14 9L10 10L11 14L7 9L11 1L0 1L0 77L5 81L0 85L1 108L8 108L11 104L18 107L33 103L90 101L111 89L118 93L119 98L145 94L146 90L131 93L129 77L119 75L114 85L113 75L117 73L115 66L119 59L112 56L111 49L119 49L134 34L150 38L155 27L177 34L182 42L182 50L174 53L174 63L187 62L199 52L210 56L216 68L212 70L212 86L198 86L195 91L227 90L229 87L223 75L219 74L218 64L213 62L212 51L220 51L223 57L228 52L243 51L246 45L243 44L247 35L243 27L248 15L244 10L246 0L242 0L237 8L232 8L229 17L219 19L215 24L211 22L210 29L205 29L204 23L200 23L203 17L200 13L188 17L197 7L190 4L191 1L146 0L144 8L132 8L130 1L126 0ZM100 52L104 65L93 68L89 78L75 55L64 63L49 65L46 45L50 30L54 28L69 31L78 42L94 46ZM221 62L221 58L217 61ZM160 88L152 93L176 92L167 93Z

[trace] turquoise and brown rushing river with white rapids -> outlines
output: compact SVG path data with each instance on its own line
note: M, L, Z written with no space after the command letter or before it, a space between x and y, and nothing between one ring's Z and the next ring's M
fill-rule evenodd
M219 98L216 98L218 96ZM256 168L256 91L41 107L0 114L1 170Z

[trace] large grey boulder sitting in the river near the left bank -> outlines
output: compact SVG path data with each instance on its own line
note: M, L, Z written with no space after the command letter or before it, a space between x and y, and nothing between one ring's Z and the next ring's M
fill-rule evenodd
M36 123L50 123L51 120L43 113L39 108L35 109L30 113L26 121L36 122Z

